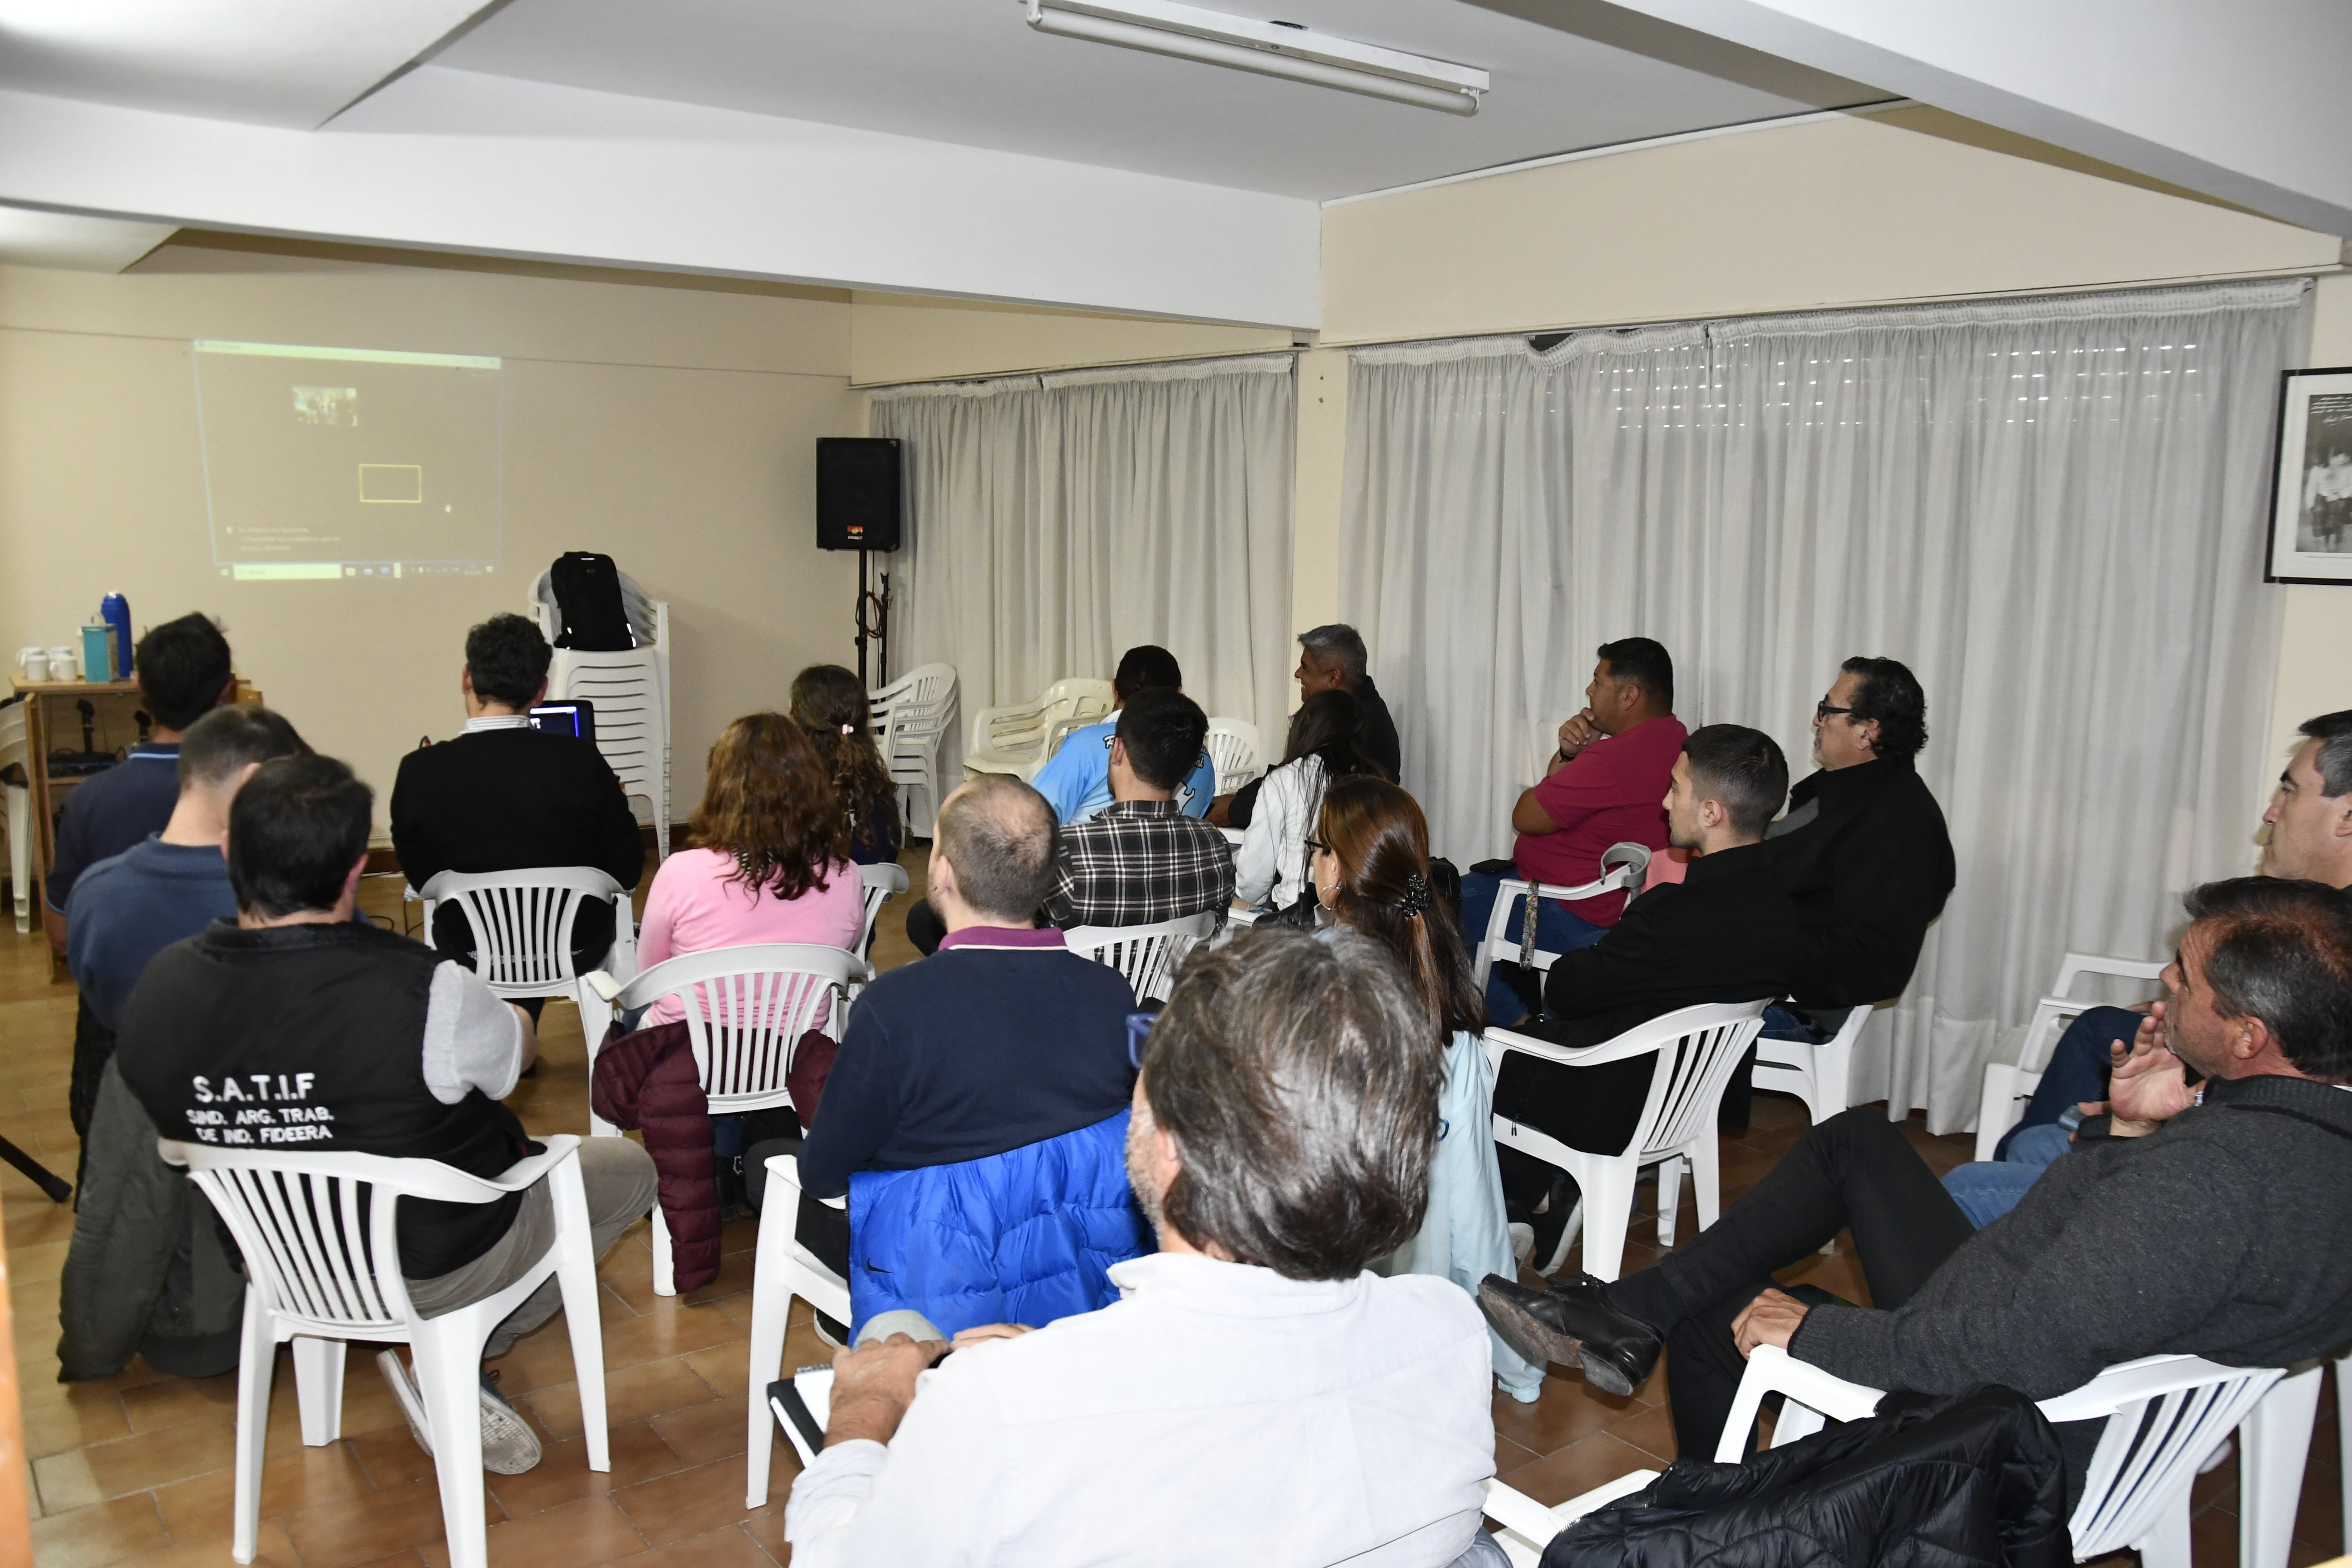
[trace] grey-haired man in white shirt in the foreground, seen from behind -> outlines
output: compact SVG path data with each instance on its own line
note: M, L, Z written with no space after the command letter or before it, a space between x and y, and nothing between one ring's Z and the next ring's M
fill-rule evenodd
M1195 957L1127 1143L1160 1253L1110 1269L1124 1300L969 1328L953 1359L906 1335L837 1352L786 1509L795 1568L1496 1561L1479 1316L1442 1279L1367 1272L1421 1227L1439 1079L1367 938Z

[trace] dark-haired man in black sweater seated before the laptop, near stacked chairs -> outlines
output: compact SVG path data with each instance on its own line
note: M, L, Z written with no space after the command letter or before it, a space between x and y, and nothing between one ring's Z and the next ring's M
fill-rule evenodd
M492 616L466 632L466 733L416 748L393 780L393 851L412 889L423 891L440 872L541 865L593 865L623 889L637 886L644 839L612 766L586 741L532 729L553 658L522 616ZM595 969L612 936L612 905L586 900L572 926L572 961ZM473 931L456 903L433 912L433 945L473 961ZM524 1004L534 1018L536 1004Z

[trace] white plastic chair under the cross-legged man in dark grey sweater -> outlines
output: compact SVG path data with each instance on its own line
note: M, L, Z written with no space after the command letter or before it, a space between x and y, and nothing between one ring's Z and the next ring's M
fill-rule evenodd
M2140 1554L2143 1568L2190 1568L2190 1483L2197 1467L2220 1441L2246 1420L2284 1373L2274 1366L2218 1366L2199 1356L2140 1356L2110 1366L2070 1394L2039 1401L2053 1422L2105 1420L2082 1500L2067 1530L2074 1535L2074 1561L2091 1561L2126 1547ZM1748 1356L1740 1392L1731 1401L1719 1465L1748 1458L1748 1434L1755 1427L1764 1394L1783 1394L1785 1406L1773 1422L1773 1448L1820 1432L1828 1420L1860 1420L1879 1408L1884 1389L1832 1378L1818 1366L1797 1361L1785 1349L1759 1345ZM2317 1389L2312 1392L2317 1399ZM2296 1467L2300 1483L2303 1467ZM2270 1523L2270 1521L2265 1521ZM2293 1514L2279 1526L2293 1526ZM2246 1568L2274 1568L2239 1559ZM2284 1549L2277 1563L2284 1563Z

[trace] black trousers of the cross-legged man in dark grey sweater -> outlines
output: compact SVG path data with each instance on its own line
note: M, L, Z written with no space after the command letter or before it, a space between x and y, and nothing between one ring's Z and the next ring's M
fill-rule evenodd
M1665 1335L1675 1443L1712 1455L1748 1361L1731 1321L1773 1281L1842 1229L1870 1281L1875 1307L1900 1307L1976 1225L1903 1131L1875 1107L1830 1117L1771 1173L1656 1267L1604 1288L1611 1307Z

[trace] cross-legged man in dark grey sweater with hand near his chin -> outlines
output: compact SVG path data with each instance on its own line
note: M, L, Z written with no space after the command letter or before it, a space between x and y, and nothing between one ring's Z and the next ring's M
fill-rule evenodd
M2032 1399L2150 1354L2333 1354L2352 1338L2352 1208L2326 1197L2352 1187L2352 905L2239 877L2187 912L2164 1001L2117 1048L2112 1114L1985 1229L1875 1107L1849 1110L1651 1269L1557 1291L1489 1274L1489 1321L1618 1392L1672 1345L1684 1453L1715 1446L1757 1345L1882 1389ZM1872 1307L1771 1286L1846 1227ZM2060 1439L2079 1488L2096 1427Z

